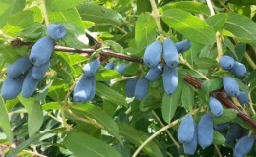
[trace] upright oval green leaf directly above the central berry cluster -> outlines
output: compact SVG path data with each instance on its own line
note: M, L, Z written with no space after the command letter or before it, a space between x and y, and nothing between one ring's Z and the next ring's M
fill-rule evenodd
M135 42L139 49L143 49L156 39L157 24L150 13L140 15L135 26Z

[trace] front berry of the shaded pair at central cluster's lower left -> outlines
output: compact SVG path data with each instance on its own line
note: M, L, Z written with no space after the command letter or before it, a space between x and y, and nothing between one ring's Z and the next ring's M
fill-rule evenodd
M148 94L149 81L146 78L140 78L135 86L134 96L138 100L142 100Z

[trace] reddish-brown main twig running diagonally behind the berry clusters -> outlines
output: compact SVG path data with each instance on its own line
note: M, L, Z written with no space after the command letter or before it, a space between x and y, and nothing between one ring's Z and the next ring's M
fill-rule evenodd
M11 42L11 45L14 47L19 47L19 46L25 45L25 46L28 46L29 48L31 48L33 43L32 42L24 42L24 41L21 41L20 39L15 39ZM75 48L56 45L54 47L54 50L61 51L61 52L69 52L69 53L70 52L80 53L80 54L85 53L85 54L91 55L96 50L96 48L94 47L94 48L88 48L88 49L75 49ZM121 53L116 53L111 50L102 50L102 52L100 52L99 54L101 56L105 56L105 57L114 57L114 58L124 59L124 60L130 61L130 62L143 63L142 59L134 58L134 57L131 57L131 56L128 56L125 54L121 54ZM199 81L197 78L193 78L189 75L185 75L184 80L196 88L201 88L201 86L202 86L201 81ZM243 121L245 121L248 125L250 125L254 132L256 132L256 122L252 121L252 119L246 113L240 111L239 108L237 106L235 106L226 96L224 96L225 94L222 94L222 93L225 93L224 90L214 91L211 95L214 96L215 98L217 98L220 102L222 102L222 104L226 108L235 109L238 112L237 115Z

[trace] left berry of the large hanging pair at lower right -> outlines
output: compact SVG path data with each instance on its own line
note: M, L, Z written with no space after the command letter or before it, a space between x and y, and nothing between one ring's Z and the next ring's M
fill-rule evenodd
M187 114L180 122L178 127L178 140L181 143L192 141L195 132L195 123L193 117Z

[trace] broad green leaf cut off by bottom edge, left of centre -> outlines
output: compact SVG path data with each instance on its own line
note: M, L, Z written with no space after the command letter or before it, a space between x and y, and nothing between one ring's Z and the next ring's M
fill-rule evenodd
M63 141L64 145L77 157L121 157L114 148L90 135L70 132Z

